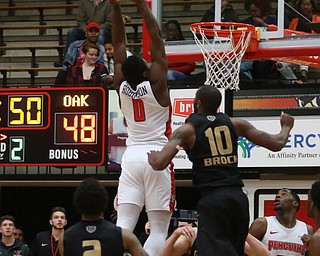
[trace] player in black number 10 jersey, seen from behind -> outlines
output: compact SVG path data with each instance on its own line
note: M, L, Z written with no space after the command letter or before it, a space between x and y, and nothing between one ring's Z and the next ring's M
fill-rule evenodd
M269 134L248 121L217 113L221 94L213 86L200 87L194 99L194 113L172 133L161 151L150 151L149 163L155 170L167 166L181 147L195 171L194 184L200 189L198 202L199 256L244 255L249 226L248 198L237 170L237 139L272 151L281 150L293 127L294 118L281 113L281 131Z

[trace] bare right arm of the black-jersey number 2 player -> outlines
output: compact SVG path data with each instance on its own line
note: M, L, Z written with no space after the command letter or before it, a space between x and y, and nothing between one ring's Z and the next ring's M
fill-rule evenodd
M122 228L122 241L126 251L132 256L148 256L149 254L142 248L138 238L129 230Z

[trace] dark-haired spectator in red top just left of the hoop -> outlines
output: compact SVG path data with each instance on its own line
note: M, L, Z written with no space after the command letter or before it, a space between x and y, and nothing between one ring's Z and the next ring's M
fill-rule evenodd
M181 26L177 20L168 20L165 25L166 41L185 40ZM168 63L167 80L184 81L194 71L196 64L194 62Z

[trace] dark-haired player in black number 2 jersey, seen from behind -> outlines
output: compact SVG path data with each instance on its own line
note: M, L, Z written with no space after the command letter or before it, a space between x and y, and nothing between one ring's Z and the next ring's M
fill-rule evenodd
M81 221L64 232L59 239L61 256L147 256L133 233L103 217L109 196L103 185L94 178L82 181L73 194L73 204ZM63 241L63 242L62 242Z

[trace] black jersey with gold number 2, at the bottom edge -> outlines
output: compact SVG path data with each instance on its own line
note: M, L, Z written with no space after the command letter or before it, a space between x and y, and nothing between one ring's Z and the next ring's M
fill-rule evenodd
M79 221L64 232L64 255L123 256L121 228L106 220Z

